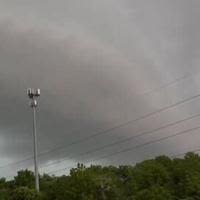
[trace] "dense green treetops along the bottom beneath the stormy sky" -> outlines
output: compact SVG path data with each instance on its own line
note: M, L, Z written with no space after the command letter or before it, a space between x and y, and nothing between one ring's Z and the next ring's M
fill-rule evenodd
M78 165L69 175L40 177L25 170L12 181L0 179L0 200L200 200L200 156L160 156L135 166Z

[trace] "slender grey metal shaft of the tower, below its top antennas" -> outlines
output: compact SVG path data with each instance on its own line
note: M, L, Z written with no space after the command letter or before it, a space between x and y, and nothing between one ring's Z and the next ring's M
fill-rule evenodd
M39 192L40 186L39 186L38 158L37 158L38 155L37 155L36 105L34 105L34 103L32 108L33 108L33 150L34 150L34 166L35 166L35 188Z

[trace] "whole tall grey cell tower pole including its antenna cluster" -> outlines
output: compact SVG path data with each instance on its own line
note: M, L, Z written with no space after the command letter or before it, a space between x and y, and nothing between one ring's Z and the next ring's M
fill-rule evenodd
M33 109L33 152L34 152L34 169L35 169L35 189L39 192L39 173L38 173L38 152L37 152L37 129L36 129L36 108L37 97L40 96L40 89L29 88L27 90L28 97L30 98L30 107Z

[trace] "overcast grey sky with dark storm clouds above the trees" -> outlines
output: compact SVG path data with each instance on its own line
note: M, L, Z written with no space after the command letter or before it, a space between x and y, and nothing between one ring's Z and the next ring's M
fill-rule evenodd
M0 166L32 155L27 87L42 90L38 110L40 152L68 147L81 138L199 94L199 9L198 0L0 0ZM200 119L195 118L78 156L198 114L199 105L197 98L45 154L40 157L41 166L68 160L40 171L77 162L130 164L198 148L197 130L96 161L196 127ZM10 176L31 166L28 161L0 168L0 175Z

